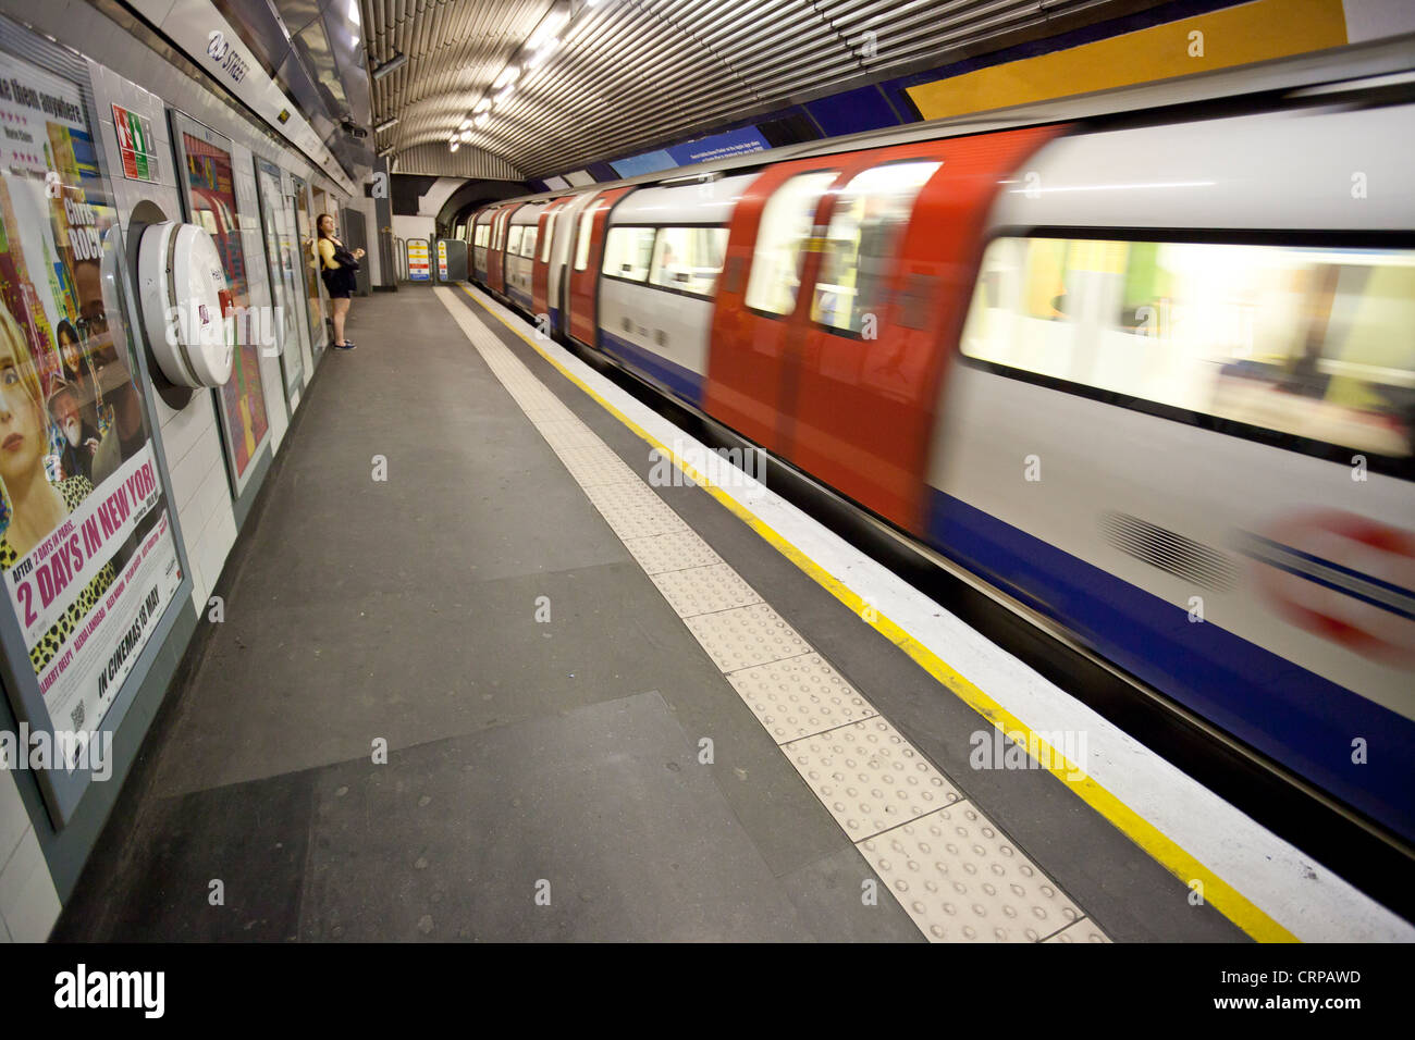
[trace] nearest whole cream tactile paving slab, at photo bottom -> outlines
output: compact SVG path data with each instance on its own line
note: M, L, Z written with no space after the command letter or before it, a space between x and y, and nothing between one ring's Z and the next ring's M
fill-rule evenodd
M938 809L857 848L934 942L1040 942L1081 918L971 804Z

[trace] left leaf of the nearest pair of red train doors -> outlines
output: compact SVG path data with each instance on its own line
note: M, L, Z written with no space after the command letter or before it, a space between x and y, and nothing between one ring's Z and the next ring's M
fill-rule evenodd
M780 396L804 243L846 161L852 157L822 156L767 167L733 208L703 406L771 451L784 446ZM764 222L771 241L758 250Z

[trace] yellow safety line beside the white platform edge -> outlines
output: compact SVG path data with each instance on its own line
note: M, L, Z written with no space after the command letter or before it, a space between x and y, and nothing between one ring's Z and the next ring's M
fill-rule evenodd
M993 726L1000 729L1003 734L1017 733L1019 730L1026 736L1027 749L1037 749L1041 751L1039 764L1057 777L1063 784L1065 784L1081 801L1095 809L1098 814L1105 816L1121 833L1129 838L1132 842L1139 845L1145 852L1148 852L1153 859L1156 859L1166 870L1169 870L1174 877L1190 887L1193 882L1203 883L1203 899L1206 903L1217 908L1224 917L1232 921L1235 925L1242 928L1248 935L1258 940L1259 942L1300 942L1300 940L1290 931L1283 928L1275 920L1272 920L1266 913L1264 913L1252 900L1240 893L1224 879L1210 870L1207 866L1200 863L1194 856L1179 846L1172 838L1163 833L1157 826L1145 819L1140 814L1132 809L1129 805L1116 798L1111 791L1104 788L1101 784L1095 782L1090 775L1085 775L1067 761L1065 756L1054 750L1049 743L1041 740L1032 729L1012 715L1007 709L993 700L990 696L983 693L978 686L965 679L958 671L955 671L948 662L934 654L928 647L921 644L913 635L906 632L891 620L884 617L877 607L866 603L865 599L850 589L848 584L841 582L838 577L831 574L825 567L812 560L797 546L777 533L768 524L761 521L754 512L741 505L736 498L729 495L722 488L713 485L708 481L705 475L698 473L688 461L681 458L672 449L662 444L654 434L641 427L627 415L620 412L614 405L601 398L593 388L590 388L577 375L570 372L559 359L552 357L541 344L538 344L532 337L522 333L519 328L512 325L504 317L497 314L491 307L477 299L468 286L463 286L461 290L467 297L481 307L487 314L494 317L502 325L505 325L511 333L521 337L533 351L536 351L542 358L550 362L556 371L560 372L566 379L579 386L584 393L587 393L600 408L608 412L611 416L618 419L624 426L633 430L638 437L648 441L654 449L657 449L662 456L672 458L674 464L678 466L688 477L693 480L695 484L700 485L708 494L722 502L727 509L736 514L747 526L756 531L761 538L764 538L777 552L785 556L788 560L795 563L801 570L809 574L816 584L829 591L835 599L855 611L862 621L876 628L882 635L884 635L890 642L908 654L914 661L923 666L925 672L932 675L938 682L947 686L955 696L958 696L965 705L972 707L978 715L990 722ZM1081 774L1077 778L1077 774Z

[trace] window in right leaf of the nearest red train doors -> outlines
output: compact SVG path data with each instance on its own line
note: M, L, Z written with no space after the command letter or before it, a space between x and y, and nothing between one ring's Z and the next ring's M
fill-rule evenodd
M850 178L831 214L812 321L859 333L866 314L879 317L914 198L940 166L937 160L886 163Z

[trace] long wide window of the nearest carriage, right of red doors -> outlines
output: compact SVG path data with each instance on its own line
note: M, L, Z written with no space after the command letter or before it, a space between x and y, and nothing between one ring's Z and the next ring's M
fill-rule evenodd
M971 358L1278 433L1411 454L1415 250L1000 238Z

